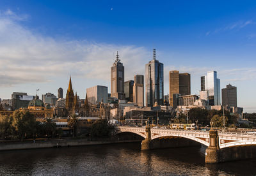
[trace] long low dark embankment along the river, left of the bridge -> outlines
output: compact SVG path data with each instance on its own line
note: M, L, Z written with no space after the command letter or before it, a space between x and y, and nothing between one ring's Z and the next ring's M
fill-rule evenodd
M52 147L72 147L85 145L104 145L109 143L127 143L140 142L141 140L97 140L88 141L88 139L51 139L51 140L36 140L31 142L8 142L0 143L1 150L24 150L24 149L44 149Z

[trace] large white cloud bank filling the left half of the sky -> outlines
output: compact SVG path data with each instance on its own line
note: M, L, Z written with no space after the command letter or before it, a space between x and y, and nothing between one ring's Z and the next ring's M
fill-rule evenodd
M11 10L0 16L0 86L50 82L51 77L70 74L110 80L116 50L125 65L125 78L132 79L143 73L143 59L149 58L143 47L42 36L22 26L17 18Z

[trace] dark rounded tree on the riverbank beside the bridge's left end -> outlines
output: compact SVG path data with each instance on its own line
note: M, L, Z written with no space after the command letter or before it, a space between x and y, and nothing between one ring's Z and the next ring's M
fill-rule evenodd
M100 119L92 124L91 135L97 137L109 136L113 127L108 124L108 121Z

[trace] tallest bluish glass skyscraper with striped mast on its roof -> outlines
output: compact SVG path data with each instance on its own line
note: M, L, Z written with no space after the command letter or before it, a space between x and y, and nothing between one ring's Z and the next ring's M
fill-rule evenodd
M156 60L156 49L153 50L153 60L146 64L146 106L164 104L164 64Z

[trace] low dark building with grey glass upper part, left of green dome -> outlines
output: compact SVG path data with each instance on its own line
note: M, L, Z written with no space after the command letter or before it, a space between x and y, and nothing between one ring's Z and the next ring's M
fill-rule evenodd
M28 103L34 96L28 96L25 92L13 92L12 94L12 108L18 110L19 108L28 108Z

